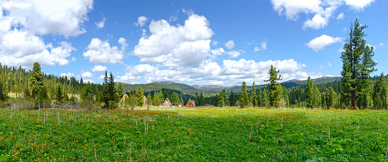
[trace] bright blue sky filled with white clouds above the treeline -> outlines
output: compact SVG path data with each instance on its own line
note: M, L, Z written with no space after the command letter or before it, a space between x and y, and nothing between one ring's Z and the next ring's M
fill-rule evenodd
M356 18L387 73L387 0L0 1L0 62L102 82L264 84L339 76ZM373 75L374 75L373 74Z

